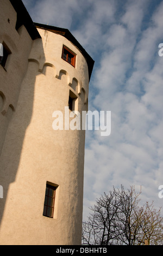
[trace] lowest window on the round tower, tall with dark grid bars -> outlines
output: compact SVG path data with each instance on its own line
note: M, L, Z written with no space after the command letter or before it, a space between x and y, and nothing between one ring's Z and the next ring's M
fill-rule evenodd
M56 189L57 189L57 187L54 187L50 184L46 184L45 201L44 201L44 207L43 207L43 216L53 218L55 190Z

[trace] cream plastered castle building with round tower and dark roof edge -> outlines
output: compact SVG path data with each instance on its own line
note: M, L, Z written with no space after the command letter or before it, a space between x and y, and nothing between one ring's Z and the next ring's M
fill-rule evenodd
M34 24L22 1L0 5L0 244L80 245L85 130L65 129L65 107L87 111L94 61L67 29Z

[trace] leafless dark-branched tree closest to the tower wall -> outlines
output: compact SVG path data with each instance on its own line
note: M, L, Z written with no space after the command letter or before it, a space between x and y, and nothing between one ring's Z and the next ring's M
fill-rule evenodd
M87 245L111 245L116 239L116 213L119 204L116 195L102 195L91 208L92 213L83 223L83 243Z

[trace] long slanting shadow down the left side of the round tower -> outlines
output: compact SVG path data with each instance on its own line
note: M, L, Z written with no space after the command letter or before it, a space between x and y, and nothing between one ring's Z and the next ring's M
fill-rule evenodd
M42 62L44 62L45 55L43 51L42 39L36 40L37 43L39 40L39 44L37 45L39 45L40 59ZM33 41L33 44L36 40ZM14 198L9 198L8 191L10 184L16 180L18 166L20 165L24 136L32 118L34 87L37 74L40 74L39 62L30 61L28 63L26 76L24 77L21 85L17 107L12 113L2 148L0 158L0 184L3 187L3 198L0 198L0 230L6 201L8 200L9 203L9 200L13 200L14 204ZM2 99L0 99L0 103L2 103ZM21 193L21 191L17 193ZM13 209L10 210L13 211ZM22 214L23 213L20 213L20 216Z

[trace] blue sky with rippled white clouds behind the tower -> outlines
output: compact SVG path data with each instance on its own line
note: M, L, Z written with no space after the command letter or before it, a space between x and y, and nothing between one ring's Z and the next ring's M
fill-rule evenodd
M34 22L68 28L95 60L89 110L111 111L111 134L86 132L84 210L112 187L142 187L162 206L163 1L23 0ZM162 48L163 53L163 48Z

